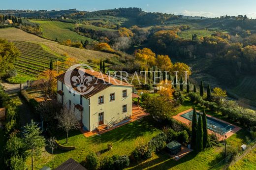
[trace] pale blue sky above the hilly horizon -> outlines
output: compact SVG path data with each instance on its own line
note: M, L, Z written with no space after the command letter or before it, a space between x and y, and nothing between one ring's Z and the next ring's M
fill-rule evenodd
M163 12L187 16L219 17L247 15L256 18L256 0L4 0L0 9L95 11L118 7L140 7L146 12Z

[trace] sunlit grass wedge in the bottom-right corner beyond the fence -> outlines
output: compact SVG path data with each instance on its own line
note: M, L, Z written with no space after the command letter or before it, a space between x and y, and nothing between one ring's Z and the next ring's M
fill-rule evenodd
M229 167L229 170L256 170L256 148L235 165Z

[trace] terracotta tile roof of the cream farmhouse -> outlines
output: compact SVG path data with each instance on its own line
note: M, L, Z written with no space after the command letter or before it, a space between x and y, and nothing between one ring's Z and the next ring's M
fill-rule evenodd
M81 69L80 69L81 70ZM81 71L78 71L78 68L75 68L72 72L71 72L71 76L70 76L70 82L71 82L71 85L72 85L72 88L77 92L77 93L80 93L80 90L78 90L79 88L81 89L81 86L79 86L79 83L77 85L75 85L74 81L72 81L71 79L73 77L80 77L80 74L81 74ZM64 81L64 77L65 77L65 74L67 72L57 76L57 79L59 81L61 81L62 83L65 84L65 81ZM80 73L80 74L79 74ZM129 85L127 83L124 83L124 82L121 82L117 79L114 79L112 77L109 77L107 75L104 75L104 74L100 74L99 72L92 72L91 70L86 70L86 69L83 69L83 72L84 75L86 77L92 77L92 81L89 82L89 84L87 84L86 82L84 82L84 86L86 87L86 90L90 90L92 89L89 93L87 94L83 94L83 96L85 98L90 98L91 96L97 94L98 92L104 90L105 88L111 86L111 85L125 85L125 86L132 86L132 85ZM121 84L122 83L122 84Z

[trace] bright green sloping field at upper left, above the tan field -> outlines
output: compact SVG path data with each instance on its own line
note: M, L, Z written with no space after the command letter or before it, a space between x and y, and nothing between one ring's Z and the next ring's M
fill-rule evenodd
M84 37L74 31L71 31L70 29L75 27L75 25L71 23L63 23L59 21L31 21L40 24L43 31L43 36L50 40L55 40L58 38L59 42L67 39L74 42L81 42L85 40L93 41L91 38Z

